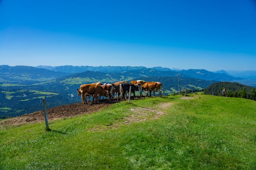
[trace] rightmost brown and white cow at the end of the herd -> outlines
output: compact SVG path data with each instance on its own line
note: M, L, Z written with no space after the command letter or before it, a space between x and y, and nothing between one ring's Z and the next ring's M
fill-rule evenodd
M148 92L151 96L151 91L153 91L153 95L156 91L159 91L162 97L162 83L160 82L143 82L142 89L145 90L145 96L148 96Z

